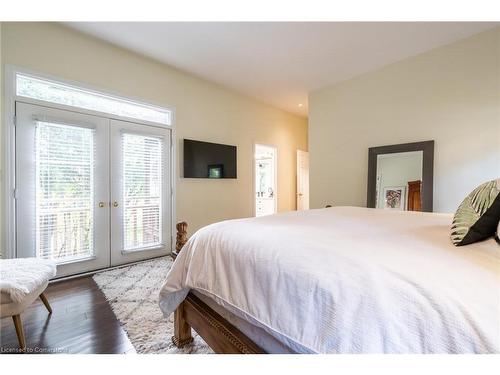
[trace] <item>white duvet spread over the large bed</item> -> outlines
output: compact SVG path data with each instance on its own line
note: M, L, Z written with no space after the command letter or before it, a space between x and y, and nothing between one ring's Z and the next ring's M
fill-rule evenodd
M450 224L335 207L209 225L160 307L196 289L299 353L498 353L500 246L455 247Z

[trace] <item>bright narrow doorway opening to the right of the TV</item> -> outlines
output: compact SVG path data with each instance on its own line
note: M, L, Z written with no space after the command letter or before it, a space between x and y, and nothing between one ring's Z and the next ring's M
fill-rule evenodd
M255 216L272 215L277 211L276 156L276 147L255 144Z

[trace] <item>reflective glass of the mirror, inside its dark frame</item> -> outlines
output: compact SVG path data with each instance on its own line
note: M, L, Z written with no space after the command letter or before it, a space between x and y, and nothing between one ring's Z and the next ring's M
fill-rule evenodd
M421 211L423 152L377 155L375 207Z

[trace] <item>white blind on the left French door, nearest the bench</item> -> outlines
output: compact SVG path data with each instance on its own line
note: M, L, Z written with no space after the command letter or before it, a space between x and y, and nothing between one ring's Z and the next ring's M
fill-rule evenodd
M37 122L36 255L58 262L94 255L95 130Z

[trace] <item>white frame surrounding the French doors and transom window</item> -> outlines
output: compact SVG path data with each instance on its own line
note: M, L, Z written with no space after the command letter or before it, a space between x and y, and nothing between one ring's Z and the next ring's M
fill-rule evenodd
M16 102L25 103L25 104L35 104L44 107L66 110L70 112L94 115L99 117L105 117L109 120L120 120L127 122L134 122L139 125L148 125L159 128L164 128L170 130L170 189L171 189L171 249L175 248L174 243L174 233L175 233L175 218L176 218L176 185L177 185L177 158L176 158L176 150L177 150L177 142L176 142L176 131L175 131L175 108L173 106L165 106L164 104L157 104L151 101L144 101L142 99L124 96L119 93L111 92L109 90L103 90L98 87L92 87L90 85L67 80L60 77L50 76L48 74L35 72L32 70L20 68L13 65L5 65L4 70L4 102L2 103L2 109L4 112L4 136L2 139L2 147L3 147L3 162L1 165L1 169L3 171L2 178L2 206L4 207L4 215L2 217L2 228L0 228L2 232L3 241L0 243L1 256L7 259L16 258L17 256L17 244L16 244ZM117 99L128 100L137 104L147 104L156 107L160 107L163 109L167 109L172 114L172 123L171 125L163 125L158 123L153 123L149 121L142 121L138 119L130 119L128 117L122 117L117 115L112 115L109 113L103 113L99 111L88 110L79 107L72 107L62 104L55 104L46 102L43 100L30 99L25 97L19 97L16 95L16 75L17 74L25 74L34 76L40 79L59 82L65 85L78 87L90 91L94 91L97 93L101 93L104 95L108 95Z

